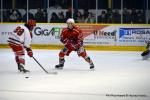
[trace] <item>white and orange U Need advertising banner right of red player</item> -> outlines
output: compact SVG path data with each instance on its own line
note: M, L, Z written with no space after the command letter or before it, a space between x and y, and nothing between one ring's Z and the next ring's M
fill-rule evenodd
M84 33L84 30L83 30ZM117 29L115 26L96 26L90 34L84 38L86 45L116 45Z

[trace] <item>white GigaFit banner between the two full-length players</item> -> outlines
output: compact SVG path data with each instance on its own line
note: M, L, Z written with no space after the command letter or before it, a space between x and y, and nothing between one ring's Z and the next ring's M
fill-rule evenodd
M32 31L32 44L60 44L59 36L65 24L37 24Z

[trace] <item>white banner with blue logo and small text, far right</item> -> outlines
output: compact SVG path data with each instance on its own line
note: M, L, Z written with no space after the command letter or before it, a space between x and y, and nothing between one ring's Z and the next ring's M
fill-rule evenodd
M150 28L148 27L118 27L118 45L143 46L150 40Z

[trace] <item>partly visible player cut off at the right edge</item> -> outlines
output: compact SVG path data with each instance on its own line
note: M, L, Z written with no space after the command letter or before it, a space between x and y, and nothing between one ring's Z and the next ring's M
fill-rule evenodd
M147 41L146 50L141 54L143 60L150 58L150 41Z

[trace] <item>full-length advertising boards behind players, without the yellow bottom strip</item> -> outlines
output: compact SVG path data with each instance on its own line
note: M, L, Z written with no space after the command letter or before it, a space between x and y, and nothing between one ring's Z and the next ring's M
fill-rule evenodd
M19 24L0 24L0 44L7 44L8 35ZM79 24L80 26L80 24ZM81 25L82 27L84 24ZM145 40L150 39L150 26L123 26L123 25L86 25L83 27L83 34L88 26L94 26L88 30L84 39L85 45L103 46L143 46ZM104 27L103 27L104 26ZM66 24L37 24L33 30L32 44L61 44L59 35ZM95 28L96 27L96 28ZM103 27L103 28L101 28Z

